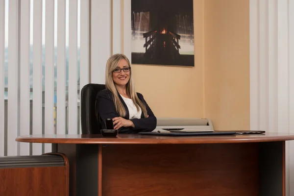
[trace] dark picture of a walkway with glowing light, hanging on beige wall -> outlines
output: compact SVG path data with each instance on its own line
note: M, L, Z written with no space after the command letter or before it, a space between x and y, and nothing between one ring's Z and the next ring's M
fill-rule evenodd
M131 1L132 64L194 66L193 0Z

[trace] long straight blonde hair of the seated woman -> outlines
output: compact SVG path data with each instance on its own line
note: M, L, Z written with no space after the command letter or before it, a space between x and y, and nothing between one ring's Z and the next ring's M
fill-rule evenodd
M118 96L118 92L117 92L117 89L114 85L113 77L112 77L112 72L116 69L116 67L118 66L119 62L122 59L126 60L128 63L128 66L131 67L131 64L130 64L128 58L123 54L114 54L107 60L106 70L105 70L105 86L106 86L106 89L108 89L112 92L112 97L113 97L116 111L119 113L119 115L121 117L125 117L126 111L125 111L125 108L123 107L123 103L122 103L121 99ZM123 70L122 70L122 72L123 72ZM147 117L146 106L138 98L137 93L135 91L131 71L130 71L129 81L126 84L126 93L133 100L137 110L139 111L139 109L141 108L142 113L144 114L144 117Z

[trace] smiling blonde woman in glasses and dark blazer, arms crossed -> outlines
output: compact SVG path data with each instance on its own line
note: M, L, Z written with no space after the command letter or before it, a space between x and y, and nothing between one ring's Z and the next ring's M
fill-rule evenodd
M112 119L114 129L121 133L152 131L156 117L143 98L135 92L128 58L123 54L112 55L106 64L105 86L97 95L97 112L102 128L105 119Z

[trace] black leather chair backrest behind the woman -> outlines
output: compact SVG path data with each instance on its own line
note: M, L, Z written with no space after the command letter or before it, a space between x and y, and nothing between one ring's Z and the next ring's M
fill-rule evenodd
M105 89L104 84L87 84L81 90L80 110L82 134L100 133L96 114L96 96Z

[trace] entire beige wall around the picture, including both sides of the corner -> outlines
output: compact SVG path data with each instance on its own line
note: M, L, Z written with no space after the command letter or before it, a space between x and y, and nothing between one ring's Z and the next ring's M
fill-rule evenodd
M249 128L249 0L194 0L195 67L133 65L157 117Z

